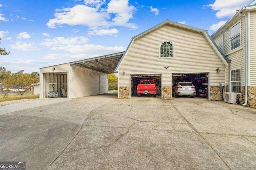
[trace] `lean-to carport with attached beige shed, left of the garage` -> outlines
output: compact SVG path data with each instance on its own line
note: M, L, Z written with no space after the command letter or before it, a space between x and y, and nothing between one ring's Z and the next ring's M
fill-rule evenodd
M114 73L124 52L40 68L40 99L68 99L108 93L108 74Z

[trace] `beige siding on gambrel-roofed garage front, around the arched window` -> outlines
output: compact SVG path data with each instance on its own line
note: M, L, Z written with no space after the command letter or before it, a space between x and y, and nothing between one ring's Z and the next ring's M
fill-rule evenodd
M174 44L174 57L159 58L159 47L164 41ZM216 73L217 67L220 73ZM172 73L210 72L211 86L225 82L225 65L204 35L170 25L134 40L118 72L119 87L130 87L133 74L162 74L162 86L172 85Z

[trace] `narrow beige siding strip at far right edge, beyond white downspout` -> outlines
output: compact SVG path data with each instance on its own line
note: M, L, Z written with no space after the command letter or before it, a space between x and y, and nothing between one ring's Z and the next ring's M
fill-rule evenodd
M250 18L250 37L251 37L251 50L250 50L250 86L256 86L256 12L251 12Z

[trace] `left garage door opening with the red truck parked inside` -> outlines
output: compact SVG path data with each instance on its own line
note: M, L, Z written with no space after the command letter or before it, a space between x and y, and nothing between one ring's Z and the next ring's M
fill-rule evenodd
M156 97L161 99L161 74L131 75L131 97Z

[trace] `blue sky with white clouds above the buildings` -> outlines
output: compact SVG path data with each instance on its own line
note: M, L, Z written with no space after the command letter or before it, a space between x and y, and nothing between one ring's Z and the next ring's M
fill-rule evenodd
M125 51L168 19L212 34L251 0L0 0L0 66L17 72Z

